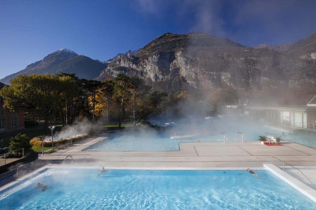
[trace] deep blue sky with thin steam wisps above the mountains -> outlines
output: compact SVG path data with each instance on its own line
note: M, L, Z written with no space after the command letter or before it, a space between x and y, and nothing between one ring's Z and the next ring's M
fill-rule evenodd
M311 34L315 20L314 0L0 0L0 78L60 48L104 61L166 32L191 31L279 45Z

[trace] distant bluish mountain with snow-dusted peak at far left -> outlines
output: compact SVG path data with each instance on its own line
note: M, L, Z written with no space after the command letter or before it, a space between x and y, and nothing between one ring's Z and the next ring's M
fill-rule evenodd
M60 71L76 73L76 76L80 78L93 79L100 75L100 71L106 66L103 62L92 60L84 55L78 55L70 49L62 48L47 55L43 60L27 65L24 70L4 77L0 82L9 84L10 78L18 74L57 74Z

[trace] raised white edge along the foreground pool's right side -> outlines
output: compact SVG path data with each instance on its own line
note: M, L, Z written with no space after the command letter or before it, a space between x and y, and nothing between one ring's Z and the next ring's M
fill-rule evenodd
M290 186L295 188L297 191L301 192L303 195L305 195L306 197L308 197L309 199L311 199L312 201L314 201L316 203L316 190L307 186L306 184L304 184L300 180L295 179L293 176L282 171L280 168L276 167L273 164L265 164L264 163L263 166L268 171L270 171L271 173L276 175L279 179L282 179L287 184L289 184Z

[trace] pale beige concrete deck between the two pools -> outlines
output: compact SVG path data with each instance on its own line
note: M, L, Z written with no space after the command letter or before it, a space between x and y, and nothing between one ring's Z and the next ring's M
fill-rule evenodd
M40 160L60 163L68 155L76 163L88 162L105 167L263 167L272 163L272 156L293 166L315 166L316 150L291 141L283 146L261 145L248 142L192 142L179 143L179 151L82 151L112 135L91 137ZM277 163L275 163L277 164ZM280 165L282 162L280 162Z

